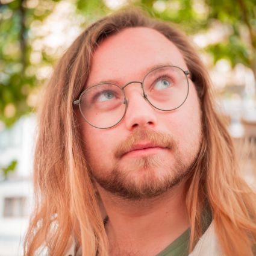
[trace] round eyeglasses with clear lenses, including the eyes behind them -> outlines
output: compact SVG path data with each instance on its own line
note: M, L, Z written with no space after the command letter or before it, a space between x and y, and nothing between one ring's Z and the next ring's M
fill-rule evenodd
M111 128L125 116L128 99L125 87L139 83L143 97L152 107L162 111L172 111L181 107L189 95L189 70L176 66L161 66L148 72L142 81L131 81L123 87L112 83L101 83L88 87L79 99L73 102L90 125Z

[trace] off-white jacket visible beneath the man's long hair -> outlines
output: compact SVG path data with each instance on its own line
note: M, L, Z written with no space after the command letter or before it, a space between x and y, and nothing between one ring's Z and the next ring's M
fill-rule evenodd
M70 240L69 249L67 249L64 256L82 256L81 250L75 254L75 242ZM217 236L214 231L213 222L207 228L205 233L202 235L201 239L196 244L193 251L189 256L223 256L219 243L217 242Z

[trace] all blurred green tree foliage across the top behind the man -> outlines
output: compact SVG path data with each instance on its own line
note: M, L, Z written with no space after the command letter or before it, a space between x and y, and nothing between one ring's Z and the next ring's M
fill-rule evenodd
M40 76L40 73L49 71L60 55L60 47L52 50L49 46L40 46L39 42L45 37L40 34L40 25L63 2L69 2L75 8L75 17L66 19L79 20L78 27L111 13L112 8L120 8L111 7L111 1L107 0L0 1L0 119L7 126L34 110L36 95L48 77ZM129 2L154 17L176 23L190 36L214 29L223 30L223 37L205 45L204 51L213 56L214 62L226 58L232 66L243 63L254 71L256 77L256 0ZM52 43L56 42L57 39L52 39Z

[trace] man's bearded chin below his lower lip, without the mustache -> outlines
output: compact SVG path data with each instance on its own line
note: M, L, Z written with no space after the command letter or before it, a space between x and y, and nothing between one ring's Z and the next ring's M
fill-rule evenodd
M121 167L116 166L107 176L95 176L95 180L106 192L130 200L163 195L180 184L189 173L189 168L182 163L176 163L175 166L152 166L146 159L140 160L140 167Z

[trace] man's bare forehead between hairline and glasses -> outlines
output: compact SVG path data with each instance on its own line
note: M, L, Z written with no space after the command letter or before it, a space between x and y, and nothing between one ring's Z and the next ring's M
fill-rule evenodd
M163 34L151 28L126 28L96 48L88 84L140 80L153 67L166 64L187 69L181 52Z

